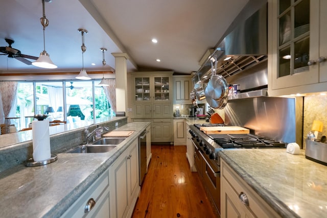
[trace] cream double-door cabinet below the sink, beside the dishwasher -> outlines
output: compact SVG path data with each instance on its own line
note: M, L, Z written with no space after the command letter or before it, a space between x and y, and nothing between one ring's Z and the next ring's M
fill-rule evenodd
M141 188L138 184L138 142L130 147L109 167L110 217L131 217Z

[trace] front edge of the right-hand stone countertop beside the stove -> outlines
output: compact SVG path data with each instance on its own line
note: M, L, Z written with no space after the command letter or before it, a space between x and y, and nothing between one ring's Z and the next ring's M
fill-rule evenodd
M292 211L286 204L276 198L271 192L256 182L251 175L249 175L244 169L233 161L223 151L218 152L218 155L235 171L271 208L282 217L300 217L294 211Z

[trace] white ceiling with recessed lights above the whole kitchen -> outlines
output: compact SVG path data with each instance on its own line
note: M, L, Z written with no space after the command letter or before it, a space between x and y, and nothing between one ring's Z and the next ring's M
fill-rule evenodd
M45 50L57 69L26 65L0 55L1 72L79 71L81 34L86 29L84 68L115 68L111 53L127 53L127 70L173 70L190 74L199 69L203 54L214 48L248 0L53 0L45 3L49 26ZM39 56L43 51L41 0L2 1L0 46L15 40L14 49ZM157 44L151 39L155 37ZM157 62L156 59L160 59ZM33 61L33 60L31 60ZM92 66L91 63L96 63Z

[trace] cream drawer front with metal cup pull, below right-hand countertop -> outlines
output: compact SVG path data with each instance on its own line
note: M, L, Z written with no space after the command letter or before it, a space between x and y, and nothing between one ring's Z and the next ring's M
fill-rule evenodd
M222 172L221 179L236 192L237 196L243 192L247 198L249 205L245 206L253 214L258 217L280 217L255 191L246 184L224 161L221 163ZM238 199L239 202L241 202Z

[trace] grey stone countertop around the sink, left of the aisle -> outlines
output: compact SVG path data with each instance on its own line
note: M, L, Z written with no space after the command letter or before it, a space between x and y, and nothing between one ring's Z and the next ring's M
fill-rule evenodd
M20 164L1 173L1 217L60 217L148 125L136 122L115 129L135 132L107 153L60 153L53 163Z

